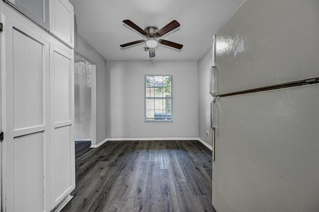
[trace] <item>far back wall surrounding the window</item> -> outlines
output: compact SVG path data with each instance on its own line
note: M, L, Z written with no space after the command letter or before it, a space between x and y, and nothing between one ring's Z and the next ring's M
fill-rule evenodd
M197 61L107 61L110 138L198 137ZM172 75L172 122L145 123L146 74ZM138 131L134 131L134 127Z

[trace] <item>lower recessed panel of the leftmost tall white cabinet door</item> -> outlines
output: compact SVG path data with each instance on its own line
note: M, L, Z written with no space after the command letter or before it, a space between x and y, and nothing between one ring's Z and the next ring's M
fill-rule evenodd
M14 211L44 211L43 149L43 132L13 139Z

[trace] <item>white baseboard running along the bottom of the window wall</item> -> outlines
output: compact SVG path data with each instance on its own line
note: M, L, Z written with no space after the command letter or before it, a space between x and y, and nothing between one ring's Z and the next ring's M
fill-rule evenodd
M212 150L212 146L206 143L204 140L200 138L186 138L186 137L172 137L172 138L105 138L103 141L99 142L96 145L91 145L90 148L97 148L104 144L107 141L145 141L145 140L199 140L202 144L204 144L208 149Z

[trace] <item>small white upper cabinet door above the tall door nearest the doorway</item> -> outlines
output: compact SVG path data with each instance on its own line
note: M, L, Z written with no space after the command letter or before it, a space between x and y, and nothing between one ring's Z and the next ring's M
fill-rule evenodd
M50 33L74 48L74 11L68 0L50 0Z

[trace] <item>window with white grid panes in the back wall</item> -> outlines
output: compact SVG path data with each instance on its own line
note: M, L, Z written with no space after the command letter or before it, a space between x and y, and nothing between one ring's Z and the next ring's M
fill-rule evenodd
M172 121L172 76L145 76L145 121Z

